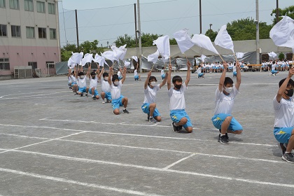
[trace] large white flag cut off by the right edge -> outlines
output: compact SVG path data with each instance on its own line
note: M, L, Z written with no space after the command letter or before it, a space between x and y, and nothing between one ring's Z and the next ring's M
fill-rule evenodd
M278 46L294 48L294 20L288 16L284 16L269 31L269 37Z

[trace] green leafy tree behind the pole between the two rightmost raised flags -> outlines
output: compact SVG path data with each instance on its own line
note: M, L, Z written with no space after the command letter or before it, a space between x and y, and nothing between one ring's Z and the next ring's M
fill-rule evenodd
M260 39L269 38L269 31L272 29L272 25L267 25L266 22L260 22L259 26ZM256 24L253 18L233 20L227 24L227 31L233 41L254 40L256 38Z

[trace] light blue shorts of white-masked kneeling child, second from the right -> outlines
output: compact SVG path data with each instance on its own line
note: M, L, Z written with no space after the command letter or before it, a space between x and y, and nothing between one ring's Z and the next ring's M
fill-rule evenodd
M214 124L214 127L216 127L216 129L218 130L221 130L221 125L223 124L223 121L225 120L225 118L227 118L228 116L232 116L232 115L226 114L226 113L216 114L213 118L211 118L212 123ZM235 132L238 130L243 130L243 127L240 125L240 123L238 123L238 121L234 117L232 117L228 130Z

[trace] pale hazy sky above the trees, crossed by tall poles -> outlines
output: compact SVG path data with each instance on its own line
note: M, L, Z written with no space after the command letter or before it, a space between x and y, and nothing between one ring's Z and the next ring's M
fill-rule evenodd
M256 0L202 0L202 34L209 29L242 18L256 19ZM58 1L61 45L99 41L98 46L112 45L118 36L135 36L134 3L137 0L62 0ZM279 0L279 8L293 6L293 0ZM200 34L200 0L139 0L141 32L168 35L181 29ZM260 22L272 24L276 0L259 0ZM138 11L138 10L137 10ZM138 18L137 18L138 20Z

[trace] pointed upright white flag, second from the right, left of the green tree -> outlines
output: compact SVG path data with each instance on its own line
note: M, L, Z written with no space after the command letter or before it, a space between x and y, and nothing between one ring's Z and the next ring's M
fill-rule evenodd
M214 43L225 49L232 50L232 52L235 53L234 44L232 43L232 38L227 31L227 25L223 25L220 31L218 31L218 35L216 36Z

